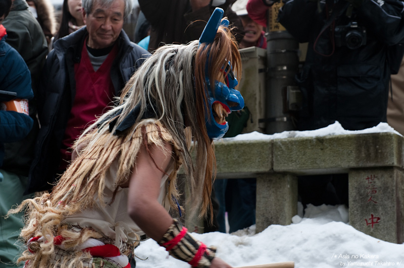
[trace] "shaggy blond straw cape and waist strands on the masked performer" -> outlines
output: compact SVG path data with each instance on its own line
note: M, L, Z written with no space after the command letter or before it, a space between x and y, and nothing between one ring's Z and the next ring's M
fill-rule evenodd
M174 161L174 170L168 178L170 185L167 185L167 192L178 198L177 189L173 185L176 185L176 172L181 163L178 156L179 147L173 143L171 135L160 122L147 123L144 121L144 123L137 127L131 137L109 137L111 134L106 132L102 137L98 137L97 143L92 144L89 141L92 140L92 136L96 135L96 131L87 133L81 141L88 145L63 174L52 193L44 193L40 197L24 200L19 208L10 211L10 213L14 213L24 207L27 209L28 217L20 235L25 243L32 237L46 238L41 243L32 245L30 249L34 248L34 252L30 252L28 249L23 252L18 261L29 260L29 266L32 267L52 267L56 254L54 237L57 235L69 238L63 242L63 245L69 248L82 244L90 237L96 239L102 237L101 234L90 231L88 228L83 229L80 233L66 229L64 220L68 215L74 215L93 206L105 206L103 192L107 171L115 163L114 160L117 160L116 186L128 182L131 170L136 165L136 155L141 145L154 144L162 147L164 142L173 144L173 155L176 161ZM103 201L99 202L99 200ZM174 202L170 201L174 206ZM113 200L111 200L112 202ZM137 242L133 241L133 243ZM129 254L130 252L122 253ZM63 263L58 262L58 265L68 267L72 263L81 263L80 261L85 259L88 261L88 254L79 252L77 254L71 260L65 259Z

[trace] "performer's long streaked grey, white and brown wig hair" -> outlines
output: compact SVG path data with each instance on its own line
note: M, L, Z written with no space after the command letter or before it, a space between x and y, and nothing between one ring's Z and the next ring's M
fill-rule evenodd
M97 133L99 137L105 133L114 133L131 111L140 106L134 127L131 128L132 132L127 133L127 137L131 137L141 125L161 122L172 136L173 143L180 148L180 162L193 196L190 208L198 208L197 205L202 201L199 214L206 215L208 209L212 210L210 194L216 161L212 140L208 137L206 129L206 118L210 118L206 113L210 110L207 109L209 96L205 77L209 76L210 81L222 81L224 74L220 70L228 60L232 62L235 74L241 75L238 47L227 27L220 27L214 42L210 44L198 46L198 41L192 41L187 45L160 47L128 81L122 92L120 105L100 117L83 136L96 126L100 128ZM209 74L206 74L207 63ZM214 92L214 89L212 91ZM156 116L142 119L150 103L153 103L152 108ZM111 116L115 113L120 115ZM114 120L116 123L112 129L105 127ZM190 137L184 135L184 129L191 133L195 142L195 164L192 163L188 150ZM92 143L97 140L93 139ZM123 179L122 183L127 178ZM171 194L178 196L174 189ZM202 200L198 196L201 196Z

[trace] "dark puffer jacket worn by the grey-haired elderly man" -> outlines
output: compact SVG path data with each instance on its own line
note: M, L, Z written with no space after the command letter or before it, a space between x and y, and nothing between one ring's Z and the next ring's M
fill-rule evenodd
M52 188L58 176L60 148L75 97L74 63L80 61L86 27L58 39L49 52L38 90L38 117L41 128L35 147L27 193ZM122 30L118 37L119 52L111 68L115 96L139 68L149 53L131 42Z

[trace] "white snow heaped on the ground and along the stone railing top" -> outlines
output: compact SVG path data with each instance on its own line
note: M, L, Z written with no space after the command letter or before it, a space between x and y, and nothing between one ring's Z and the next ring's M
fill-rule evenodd
M335 122L310 131L284 131L274 135L251 132L226 138L227 141L319 137L329 135L394 132L387 123L350 131ZM287 226L271 225L256 234L255 226L232 234L212 232L194 237L207 245L217 246L217 256L234 267L283 261L294 261L296 268L330 267L402 267L404 244L393 244L357 231L348 223L344 206L309 205ZM190 265L168 255L154 240L147 240L135 249L138 268L189 268Z

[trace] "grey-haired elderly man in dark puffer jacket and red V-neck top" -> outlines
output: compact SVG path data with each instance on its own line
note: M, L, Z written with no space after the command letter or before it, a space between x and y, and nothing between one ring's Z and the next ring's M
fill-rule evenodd
M71 161L74 141L148 56L122 30L131 10L131 0L83 0L86 26L55 42L38 92L41 128L27 192L52 187Z

